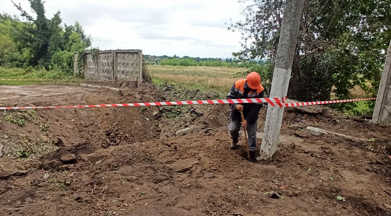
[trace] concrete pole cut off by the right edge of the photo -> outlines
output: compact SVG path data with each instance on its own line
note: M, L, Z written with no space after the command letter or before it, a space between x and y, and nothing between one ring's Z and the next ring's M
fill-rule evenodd
M372 121L380 124L391 124L391 41L384 63Z

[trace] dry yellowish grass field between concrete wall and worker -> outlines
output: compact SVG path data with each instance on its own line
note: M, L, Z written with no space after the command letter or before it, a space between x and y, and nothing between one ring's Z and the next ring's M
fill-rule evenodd
M227 94L233 83L239 78L233 78L237 72L243 70L235 67L209 67L209 66L153 66L149 65L155 84L170 83L186 86L203 91L216 90Z

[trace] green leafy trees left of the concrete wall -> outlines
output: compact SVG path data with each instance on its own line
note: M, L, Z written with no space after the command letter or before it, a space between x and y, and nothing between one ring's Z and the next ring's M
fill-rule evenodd
M7 47L2 50L8 49L6 54L0 51L0 65L6 64L11 67L41 65L46 69L54 65L63 67L70 65L71 52L84 50L91 45L91 36L84 33L79 22L75 22L73 26L64 24L63 27L60 11L48 19L45 16L42 0L28 1L36 16L31 16L20 4L14 2L14 6L25 21L22 22L7 14L0 16L0 26L6 30L0 31L0 37L3 39L0 45ZM55 55L56 53L58 54ZM56 59L52 59L53 57ZM66 71L68 72L69 68Z

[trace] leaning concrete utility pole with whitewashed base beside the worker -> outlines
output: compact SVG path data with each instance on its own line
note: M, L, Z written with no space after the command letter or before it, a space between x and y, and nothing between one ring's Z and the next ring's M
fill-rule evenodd
M270 97L287 95L302 12L303 0L287 0L285 2ZM275 106L267 108L264 138L261 145L263 159L272 157L277 150L283 114L284 108Z

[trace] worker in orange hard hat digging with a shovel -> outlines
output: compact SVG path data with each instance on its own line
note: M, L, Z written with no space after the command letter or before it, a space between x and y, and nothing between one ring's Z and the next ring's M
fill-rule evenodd
M246 79L240 79L232 85L227 99L246 99L246 98L263 98L264 87L261 85L261 76L257 72L251 72ZM256 129L259 110L262 108L262 103L244 103L230 104L230 135L232 139L231 149L235 149L239 141L240 126L246 128L248 134L248 145L250 151L250 161L255 161L256 153ZM240 112L243 112L244 121Z

